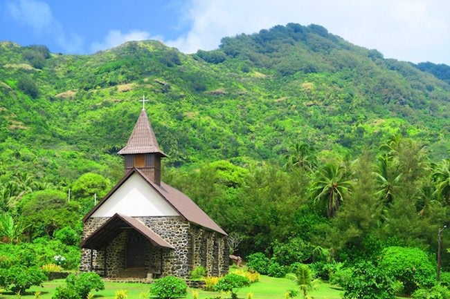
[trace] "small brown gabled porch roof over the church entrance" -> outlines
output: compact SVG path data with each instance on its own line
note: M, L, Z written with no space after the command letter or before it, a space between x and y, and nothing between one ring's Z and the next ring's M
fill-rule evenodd
M141 221L118 213L114 214L107 222L89 235L88 238L84 239L80 244L80 247L97 250L102 249L109 240L120 233L123 227L131 227L138 231L138 233L141 233L141 235L147 238L154 246L174 249L172 245L152 231L148 226L145 226Z

